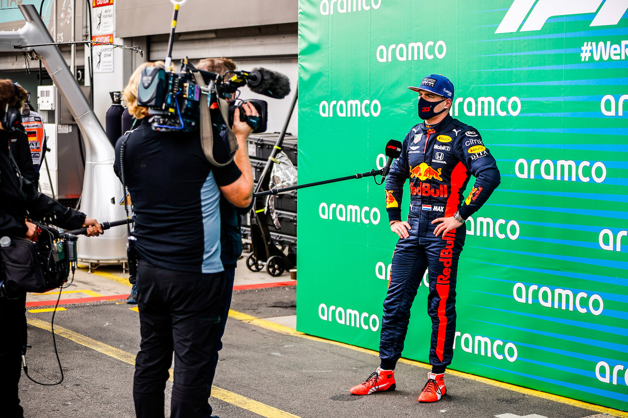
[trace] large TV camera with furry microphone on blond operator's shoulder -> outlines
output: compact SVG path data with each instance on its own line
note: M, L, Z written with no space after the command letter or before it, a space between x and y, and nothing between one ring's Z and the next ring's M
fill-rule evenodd
M141 70L138 86L138 105L148 107L151 127L155 131L200 131L200 141L207 160L216 165L229 164L237 149L232 131L233 118L242 100L237 99L238 88L248 85L253 92L283 99L290 93L290 80L283 74L264 68L252 72L227 72L223 75L197 70L185 58L178 71L172 67L172 47L175 39L179 8L187 0L170 0L174 11L168 56L164 68L146 67ZM236 100L233 100L235 96ZM230 99L229 103L225 99ZM241 121L247 122L254 132L264 132L268 117L264 100L247 100L257 109L259 117L240 112Z

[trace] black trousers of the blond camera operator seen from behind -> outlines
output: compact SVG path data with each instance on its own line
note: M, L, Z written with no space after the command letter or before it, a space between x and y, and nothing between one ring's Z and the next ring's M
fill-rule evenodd
M138 263L141 331L133 400L138 418L164 417L164 390L175 353L171 418L202 418L210 395L213 353L220 341L224 274Z

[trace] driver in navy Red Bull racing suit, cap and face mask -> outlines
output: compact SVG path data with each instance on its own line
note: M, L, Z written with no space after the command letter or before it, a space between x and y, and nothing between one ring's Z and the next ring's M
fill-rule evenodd
M443 376L452 362L456 327L458 257L465 242L465 220L499 185L499 169L479 132L449 115L453 84L443 75L423 78L419 117L403 141L403 151L386 180L386 210L399 235L391 279L384 299L379 357L381 365L354 395L395 389L394 368L408 332L410 308L426 269L430 282L428 314L432 322L428 381L419 402L436 402L447 392ZM467 198L470 175L476 178ZM410 182L408 220L401 220L403 185Z

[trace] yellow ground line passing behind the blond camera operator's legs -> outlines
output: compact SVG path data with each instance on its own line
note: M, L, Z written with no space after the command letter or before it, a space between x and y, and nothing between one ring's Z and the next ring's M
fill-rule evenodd
M37 328L41 328L42 330L51 331L50 323L46 321L28 318L28 323L32 326L36 326ZM104 355L116 358L121 362L132 366L135 365L135 355L127 353L124 350L120 350L119 348L93 340L88 336L75 333L74 331L70 331L67 328L63 328L58 325L55 326L55 334L67 338L70 341L74 341L82 346L91 348L92 350L99 351ZM168 380L173 381L173 370L170 369L168 372L170 373L170 378ZM223 400L228 404L236 405L242 409L249 410L266 418L300 418L298 415L293 415L290 414L290 412L285 412L281 409L271 407L270 405L257 402L257 400L252 400L242 395L234 394L233 392L229 392L229 390L221 389L214 385L212 385L212 397Z

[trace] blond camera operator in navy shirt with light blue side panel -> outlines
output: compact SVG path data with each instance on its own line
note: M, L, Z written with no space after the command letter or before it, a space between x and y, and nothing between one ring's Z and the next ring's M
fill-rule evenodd
M175 353L171 417L203 417L213 372L212 353L220 341L224 268L220 262L220 193L233 205L251 204L250 165L223 167L207 161L197 132L151 129L148 109L138 106L141 69L123 97L138 129L116 144L116 173L133 200L132 241L138 255L141 346L133 399L138 417L163 417L168 368ZM257 115L252 105L242 110ZM236 110L239 121L239 110ZM234 124L240 144L252 129ZM122 150L124 155L122 156ZM134 239L133 239L134 238Z

